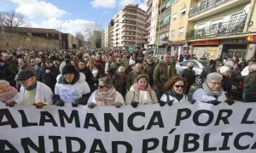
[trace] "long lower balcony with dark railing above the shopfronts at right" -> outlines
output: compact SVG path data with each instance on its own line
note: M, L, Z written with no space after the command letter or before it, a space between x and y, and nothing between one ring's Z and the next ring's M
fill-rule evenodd
M220 23L214 26L208 26L201 29L195 29L187 32L189 40L212 38L212 37L227 37L242 33L246 23L244 20L233 20L230 22Z

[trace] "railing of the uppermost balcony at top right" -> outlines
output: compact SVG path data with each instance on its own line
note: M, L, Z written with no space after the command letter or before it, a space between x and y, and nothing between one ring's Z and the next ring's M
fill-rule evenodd
M226 3L230 0L206 0L202 1L200 6L195 8L190 8L189 10L189 18L195 16L196 14L201 14L201 12L205 12L211 8L215 8L223 3Z

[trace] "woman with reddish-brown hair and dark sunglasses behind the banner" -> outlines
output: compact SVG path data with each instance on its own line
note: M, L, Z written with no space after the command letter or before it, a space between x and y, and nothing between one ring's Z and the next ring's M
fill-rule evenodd
M178 102L188 102L188 96L184 93L186 82L183 77L172 77L170 78L164 88L167 91L160 98L160 105L163 106L166 103L172 105Z

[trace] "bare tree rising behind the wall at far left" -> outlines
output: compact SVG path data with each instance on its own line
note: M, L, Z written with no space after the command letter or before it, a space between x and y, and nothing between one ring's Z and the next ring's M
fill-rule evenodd
M16 27L26 24L23 14L16 13L15 10L0 11L0 19L3 21L3 26L8 27L11 30L15 30Z

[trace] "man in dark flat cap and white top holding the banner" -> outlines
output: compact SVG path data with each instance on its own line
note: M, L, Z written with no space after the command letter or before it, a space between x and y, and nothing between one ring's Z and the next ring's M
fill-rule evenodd
M52 103L52 92L50 88L42 82L37 82L37 78L32 71L20 71L15 78L20 82L20 97L17 101L10 102L10 105L35 105L38 109L44 105Z

